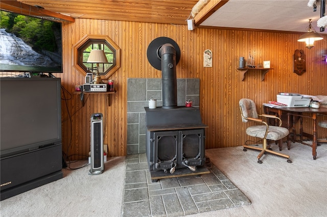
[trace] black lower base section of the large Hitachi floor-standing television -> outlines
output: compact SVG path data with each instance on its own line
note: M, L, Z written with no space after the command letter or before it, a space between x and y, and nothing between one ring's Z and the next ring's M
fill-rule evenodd
M61 179L61 150L57 144L2 158L1 200Z

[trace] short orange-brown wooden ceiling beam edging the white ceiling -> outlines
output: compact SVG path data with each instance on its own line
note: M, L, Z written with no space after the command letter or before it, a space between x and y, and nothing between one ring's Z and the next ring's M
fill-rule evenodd
M204 8L202 8L202 10L194 17L195 25L200 25L228 1L229 0L209 1L208 4L204 6Z

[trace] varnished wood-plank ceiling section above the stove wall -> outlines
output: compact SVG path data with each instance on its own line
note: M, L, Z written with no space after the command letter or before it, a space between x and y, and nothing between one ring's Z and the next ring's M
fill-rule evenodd
M123 20L137 22L157 22L186 24L197 0L21 0L28 5L38 5L46 10L65 14L71 17Z

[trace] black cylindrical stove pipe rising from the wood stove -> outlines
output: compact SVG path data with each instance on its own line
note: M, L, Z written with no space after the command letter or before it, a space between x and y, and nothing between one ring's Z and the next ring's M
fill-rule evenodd
M158 48L157 55L161 59L162 108L176 108L176 50L167 43Z

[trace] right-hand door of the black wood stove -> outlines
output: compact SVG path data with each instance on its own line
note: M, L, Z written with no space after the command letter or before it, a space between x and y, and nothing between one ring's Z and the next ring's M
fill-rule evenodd
M204 129L181 130L180 144L180 168L204 165Z

